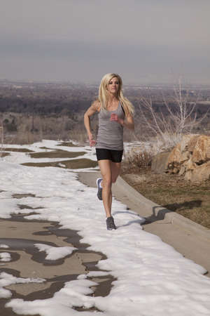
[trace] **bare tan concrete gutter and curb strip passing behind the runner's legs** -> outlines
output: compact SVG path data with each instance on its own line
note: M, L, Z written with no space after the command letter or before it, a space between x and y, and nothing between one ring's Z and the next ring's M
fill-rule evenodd
M90 187L96 187L96 179L99 176L99 172L78 173L79 180ZM158 235L163 242L173 246L183 256L202 265L210 277L210 230L151 202L128 185L123 178L119 177L113 185L113 195L146 218L146 232Z

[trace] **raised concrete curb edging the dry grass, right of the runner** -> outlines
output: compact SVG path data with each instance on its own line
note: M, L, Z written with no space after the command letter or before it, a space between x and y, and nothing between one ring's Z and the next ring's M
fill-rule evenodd
M144 212L147 216L151 216L154 214L154 209L157 209L157 213L153 216L159 218L159 220L167 220L174 225L182 226L186 230L190 230L196 232L198 235L202 235L202 237L209 239L210 242L210 230L208 228L204 228L204 226L193 222L174 211L169 211L168 209L163 208L162 206L155 204L149 199L146 199L141 193L137 192L132 186L130 186L123 178L118 177L118 181L116 186L119 190L123 190L127 195L130 196L130 199L135 200L135 203L139 204L139 206L144 207ZM139 215L142 216L142 213L139 211Z

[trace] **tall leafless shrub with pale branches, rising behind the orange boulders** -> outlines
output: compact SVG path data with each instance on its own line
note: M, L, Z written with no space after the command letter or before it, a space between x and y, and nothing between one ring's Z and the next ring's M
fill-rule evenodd
M204 113L197 118L197 103L190 102L189 94L183 93L181 81L174 88L172 105L163 96L163 110L155 111L152 98L141 98L139 110L144 124L155 138L156 151L162 151L174 147L181 140L184 133L193 133L195 126L207 117Z

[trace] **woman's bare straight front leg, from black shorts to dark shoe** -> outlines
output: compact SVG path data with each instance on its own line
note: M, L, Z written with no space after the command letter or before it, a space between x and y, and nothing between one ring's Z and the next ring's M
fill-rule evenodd
M106 217L111 216L111 202L112 202L112 193L111 193L111 184L112 184L112 162L111 160L104 159L98 161L100 171L102 173L102 199L104 203L104 209L106 212Z

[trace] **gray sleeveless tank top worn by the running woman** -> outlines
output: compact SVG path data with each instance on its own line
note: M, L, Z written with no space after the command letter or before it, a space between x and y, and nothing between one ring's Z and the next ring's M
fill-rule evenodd
M112 113L117 114L120 119L125 118L125 113L120 102L117 110L99 111L99 130L96 148L123 150L123 126L117 121L110 121Z

